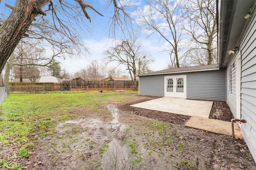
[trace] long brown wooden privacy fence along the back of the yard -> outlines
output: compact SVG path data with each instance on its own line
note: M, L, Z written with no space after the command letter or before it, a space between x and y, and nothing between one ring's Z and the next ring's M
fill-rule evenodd
M138 82L136 82L138 84ZM70 80L62 83L10 82L10 92L81 91L81 90L138 90L132 81L83 81Z

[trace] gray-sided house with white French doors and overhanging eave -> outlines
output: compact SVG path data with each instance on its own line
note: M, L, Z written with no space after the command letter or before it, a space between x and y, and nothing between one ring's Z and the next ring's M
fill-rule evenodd
M139 74L139 94L226 101L256 161L256 1L218 0L218 64ZM247 18L247 19L246 19Z

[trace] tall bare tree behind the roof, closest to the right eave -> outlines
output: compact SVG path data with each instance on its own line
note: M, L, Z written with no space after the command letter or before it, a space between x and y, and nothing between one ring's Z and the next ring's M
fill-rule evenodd
M217 58L214 52L217 49L216 0L188 0L184 11L184 18L188 21L184 28L192 41L198 44L189 52L190 55L194 52L192 62L214 64Z

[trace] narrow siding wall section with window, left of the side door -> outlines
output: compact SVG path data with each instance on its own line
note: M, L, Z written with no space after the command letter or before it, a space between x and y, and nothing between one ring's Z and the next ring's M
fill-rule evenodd
M230 74L231 69L231 74ZM227 104L230 107L230 110L233 113L233 116L236 117L236 60L235 56L230 59L227 70ZM231 75L231 89L230 89L230 75Z

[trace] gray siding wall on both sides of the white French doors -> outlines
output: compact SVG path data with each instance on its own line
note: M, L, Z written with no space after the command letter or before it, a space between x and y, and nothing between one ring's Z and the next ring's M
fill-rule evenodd
M139 94L164 96L164 76L186 75L187 99L226 101L226 70L140 76Z

